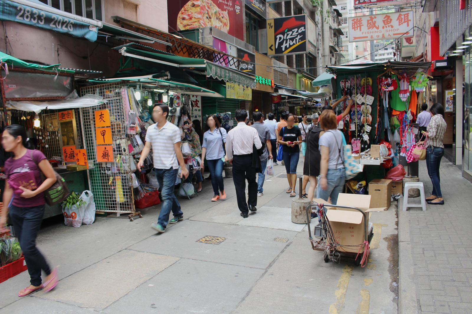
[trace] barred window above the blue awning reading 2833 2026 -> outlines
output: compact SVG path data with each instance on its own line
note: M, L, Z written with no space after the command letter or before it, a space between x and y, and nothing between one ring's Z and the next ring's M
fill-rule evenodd
M102 0L40 0L58 10L103 21Z

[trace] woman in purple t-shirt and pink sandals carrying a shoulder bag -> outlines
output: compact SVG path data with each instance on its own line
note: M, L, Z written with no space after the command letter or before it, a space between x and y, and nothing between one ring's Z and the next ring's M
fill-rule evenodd
M49 291L58 283L56 270L51 271L46 259L36 248L36 236L44 215L45 200L43 192L56 182L56 176L43 153L28 149L34 147L26 138L26 132L22 126L13 124L6 127L1 142L5 151L12 152L13 157L5 161L7 178L5 180L5 191L3 192L3 204L9 204L9 206L4 206L1 210L0 231L5 229L9 211L31 277L31 285L18 293L18 297L24 297L42 288ZM37 189L32 191L20 186L15 188L16 193L14 193L12 186L8 183L8 178L22 172L33 174L35 184L38 186ZM41 173L46 177L43 182ZM11 182L12 184L16 182L13 177ZM44 284L41 282L41 270L47 275Z

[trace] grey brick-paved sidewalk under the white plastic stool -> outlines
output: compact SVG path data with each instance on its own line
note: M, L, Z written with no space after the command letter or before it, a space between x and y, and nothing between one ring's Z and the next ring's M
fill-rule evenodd
M472 184L445 158L440 178L445 205L399 210L398 313L472 313ZM424 161L420 181L428 197Z

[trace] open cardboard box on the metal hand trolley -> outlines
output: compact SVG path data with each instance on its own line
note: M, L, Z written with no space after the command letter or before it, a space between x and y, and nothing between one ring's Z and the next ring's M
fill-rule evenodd
M318 201L318 200L316 200ZM322 201L322 200L321 200ZM363 252L362 243L365 240L365 227L369 225L370 212L385 210L385 208L370 208L371 195L339 193L337 205L352 206L361 209L366 213L366 223L364 215L355 209L345 209L328 204L326 216L334 233L336 241L343 245L338 247L339 251L357 253ZM327 239L329 243L329 238ZM359 251L359 249L361 249Z

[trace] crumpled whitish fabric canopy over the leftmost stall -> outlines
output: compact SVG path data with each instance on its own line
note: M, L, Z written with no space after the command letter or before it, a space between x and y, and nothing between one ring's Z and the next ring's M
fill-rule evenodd
M22 111L33 111L40 113L43 109L69 109L69 108L84 108L101 105L104 103L103 97L93 94L86 94L83 97L74 99L62 99L55 101L8 101L5 105L11 109Z

